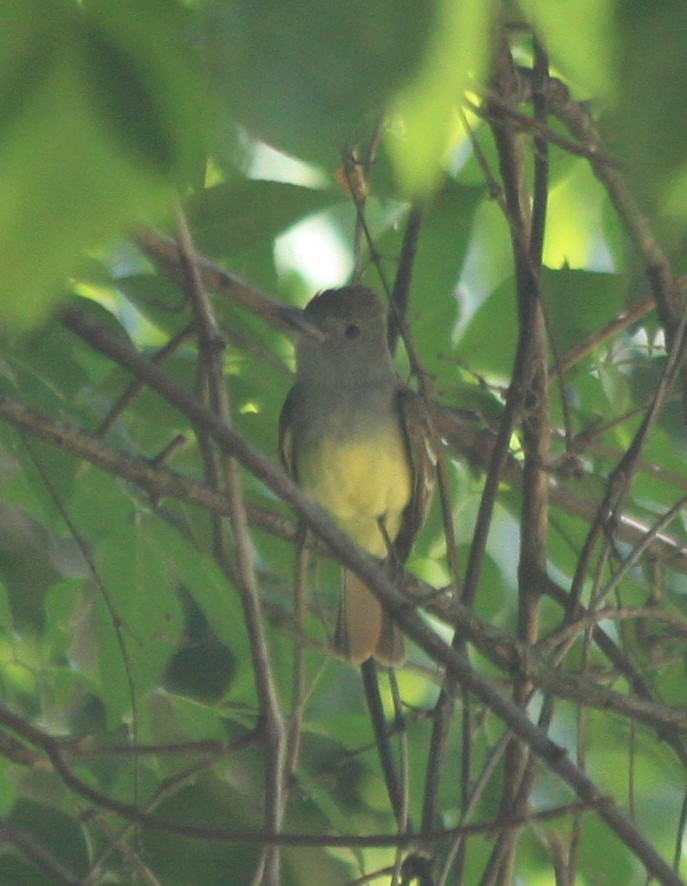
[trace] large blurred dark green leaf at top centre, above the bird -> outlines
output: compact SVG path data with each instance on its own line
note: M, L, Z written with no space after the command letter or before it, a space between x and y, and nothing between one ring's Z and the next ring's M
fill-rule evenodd
M422 0L212 0L215 88L251 134L332 168L363 118L381 114L412 76L434 15L435 3Z

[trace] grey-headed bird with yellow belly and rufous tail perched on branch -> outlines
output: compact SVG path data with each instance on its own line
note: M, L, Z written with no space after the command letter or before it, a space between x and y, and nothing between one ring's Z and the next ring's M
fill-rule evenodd
M386 311L372 290L322 292L305 318L317 334L297 337L296 384L280 417L284 464L360 547L403 563L434 479L422 401L396 375ZM355 663L404 657L398 627L347 569L334 647Z

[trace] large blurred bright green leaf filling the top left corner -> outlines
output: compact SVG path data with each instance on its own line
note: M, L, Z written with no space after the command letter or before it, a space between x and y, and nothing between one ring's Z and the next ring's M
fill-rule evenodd
M165 209L186 162L187 53L172 67L152 49L179 43L178 8L146 0L136 17L132 8L3 4L0 275L10 327L45 314L83 248Z

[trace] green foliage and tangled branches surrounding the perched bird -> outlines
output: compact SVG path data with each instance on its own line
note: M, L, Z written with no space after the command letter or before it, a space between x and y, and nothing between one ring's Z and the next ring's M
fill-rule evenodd
M677 0L5 0L2 882L681 882L686 28ZM377 675L396 814L327 652L336 569L299 622L288 484L202 410L276 465L277 305L351 275L409 288L444 440L409 563L443 593Z

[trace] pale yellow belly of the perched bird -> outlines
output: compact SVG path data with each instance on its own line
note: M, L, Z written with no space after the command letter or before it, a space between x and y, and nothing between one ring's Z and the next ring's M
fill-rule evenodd
M386 557L379 521L393 541L412 492L400 429L382 430L373 439L325 439L314 448L299 459L301 486L361 547Z

